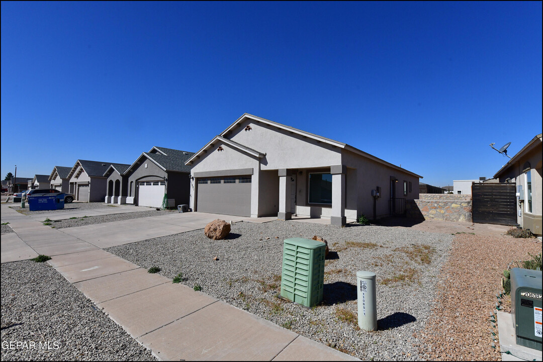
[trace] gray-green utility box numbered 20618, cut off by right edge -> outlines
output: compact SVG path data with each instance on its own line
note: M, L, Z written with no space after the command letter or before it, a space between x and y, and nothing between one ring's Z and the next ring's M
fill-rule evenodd
M513 268L510 275L516 344L541 351L541 271Z

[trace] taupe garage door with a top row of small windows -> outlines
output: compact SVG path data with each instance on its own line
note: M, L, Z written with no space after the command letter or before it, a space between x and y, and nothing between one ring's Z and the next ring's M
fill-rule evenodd
M197 211L251 216L251 175L197 179Z

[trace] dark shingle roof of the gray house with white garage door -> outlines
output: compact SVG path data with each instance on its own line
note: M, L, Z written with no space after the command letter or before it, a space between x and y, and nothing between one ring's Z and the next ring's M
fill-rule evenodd
M153 147L149 152L143 152L134 163L126 170L129 173L142 163L143 158L148 158L165 172L191 172L191 166L185 163L188 158L194 155L193 152L174 150L173 148Z

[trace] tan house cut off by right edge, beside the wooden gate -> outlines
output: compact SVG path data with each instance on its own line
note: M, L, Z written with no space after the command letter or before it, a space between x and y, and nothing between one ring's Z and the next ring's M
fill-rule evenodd
M541 238L541 138L535 136L494 177L517 187L517 223Z

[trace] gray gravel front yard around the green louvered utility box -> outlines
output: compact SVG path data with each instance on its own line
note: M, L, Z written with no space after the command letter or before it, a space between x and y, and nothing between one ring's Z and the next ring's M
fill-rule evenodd
M278 297L283 239L328 240L324 301L311 309ZM363 360L420 359L416 346L430 317L451 234L382 226L337 227L295 221L236 223L226 240L203 230L111 247L144 268ZM218 257L218 261L213 258ZM356 271L377 274L376 332L357 326Z

